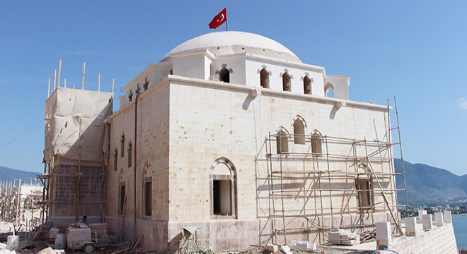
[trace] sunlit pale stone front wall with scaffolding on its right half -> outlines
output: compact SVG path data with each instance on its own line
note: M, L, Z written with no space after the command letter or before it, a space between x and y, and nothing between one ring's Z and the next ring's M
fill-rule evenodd
M236 167L237 176L237 211L238 223L252 219L267 219L271 214L270 183L268 182L267 163L268 143L265 141L269 133L276 133L280 126L293 133L293 121L296 115L304 118L307 124L306 134L318 129L323 135L381 140L386 135L386 109L370 104L348 104L347 107L335 109L333 99L316 99L315 97L291 97L287 92L268 93L267 90L251 98L250 90L236 85L217 85L214 82L196 82L195 80L173 77L170 84L170 220L199 224L212 218L212 203L209 185L210 167L220 157L226 157ZM291 139L290 150L306 151L306 145L296 145ZM329 149L334 154L348 155L352 145L330 144ZM369 152L376 147L369 147ZM272 143L275 153L275 143ZM323 148L325 150L325 148ZM364 155L364 148L357 150L359 156ZM258 157L256 157L258 156ZM382 155L388 156L388 155ZM326 170L326 162L320 159L321 170ZM352 159L331 162L331 169L352 171ZM278 163L273 164L279 170ZM388 162L374 164L375 171L389 173ZM297 171L306 168L317 170L313 160L284 164L284 170ZM318 188L317 176L305 183L305 189ZM391 188L393 182L388 178L380 179L384 188ZM284 183L296 184L285 181ZM331 187L354 189L354 180L333 179ZM321 188L328 188L326 179ZM277 188L277 186L275 187ZM377 188L374 183L374 188ZM301 193L300 195L304 195ZM285 208L306 207L304 212L310 212L316 207L325 207L325 224L328 226L358 224L357 199L350 191L345 195L333 195L333 221L331 221L331 204L328 192L324 192L323 204L318 193L314 198L289 198L285 200ZM388 195L388 200L394 202L395 197ZM277 200L276 200L277 202ZM351 208L341 209L342 203L348 203ZM375 196L379 203L377 211L383 212L387 207L382 203L382 197ZM277 207L276 207L277 208ZM347 215L345 215L347 214ZM376 216L377 217L377 216ZM380 221L387 220L384 213ZM371 219L367 217L367 219ZM220 222L220 221L219 221ZM292 224L304 226L304 220L296 219ZM310 225L311 226L311 225ZM270 225L260 224L259 229L267 229ZM258 229L258 234L259 234ZM201 229L201 231L207 229ZM235 231L235 230L234 230ZM242 238L241 231L236 231ZM267 236L267 234L265 234ZM169 232L168 238L175 236ZM296 236L302 238L304 236ZM258 243L258 238L250 243ZM215 242L211 242L216 245ZM238 244L233 241L232 245Z

